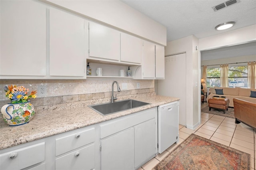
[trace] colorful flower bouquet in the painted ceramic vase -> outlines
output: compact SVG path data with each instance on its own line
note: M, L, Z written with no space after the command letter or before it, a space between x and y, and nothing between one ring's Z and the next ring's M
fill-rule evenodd
M24 86L16 85L7 85L4 87L5 96L8 97L12 104L16 103L26 103L30 98L36 98L36 90L33 90L30 95L28 95L29 89L26 89Z

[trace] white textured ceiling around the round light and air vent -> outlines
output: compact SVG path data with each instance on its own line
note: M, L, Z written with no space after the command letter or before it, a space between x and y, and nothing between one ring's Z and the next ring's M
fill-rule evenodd
M122 2L167 27L167 42L194 35L204 38L256 24L256 0L214 12L212 6L225 0L122 0ZM218 24L234 21L228 30L216 31Z

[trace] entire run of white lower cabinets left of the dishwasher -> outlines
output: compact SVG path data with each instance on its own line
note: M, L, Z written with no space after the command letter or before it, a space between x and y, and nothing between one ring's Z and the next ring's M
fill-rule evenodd
M156 153L154 107L2 149L0 170L135 170Z

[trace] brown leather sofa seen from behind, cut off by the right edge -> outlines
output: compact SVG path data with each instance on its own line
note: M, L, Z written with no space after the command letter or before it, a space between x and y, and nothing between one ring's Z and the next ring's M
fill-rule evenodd
M241 99L233 99L235 123L244 123L256 129L256 103Z

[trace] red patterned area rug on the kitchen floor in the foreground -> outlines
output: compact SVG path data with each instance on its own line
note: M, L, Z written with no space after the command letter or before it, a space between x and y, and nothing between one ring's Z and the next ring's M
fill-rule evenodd
M191 134L152 170L250 170L250 154Z

